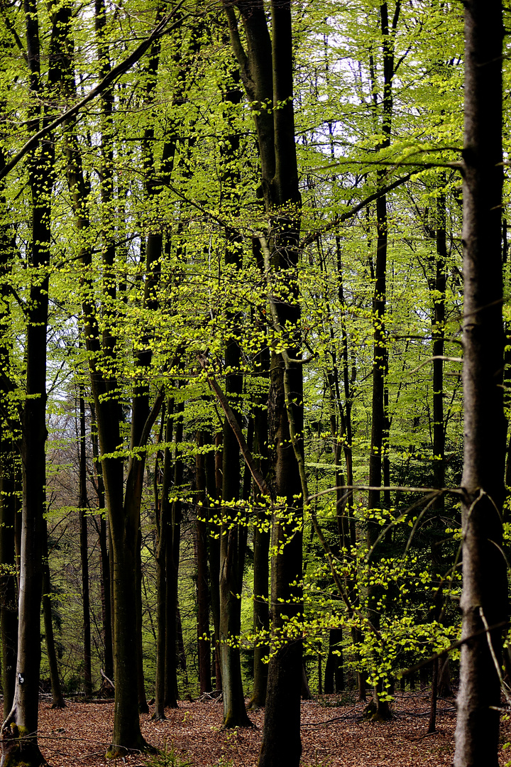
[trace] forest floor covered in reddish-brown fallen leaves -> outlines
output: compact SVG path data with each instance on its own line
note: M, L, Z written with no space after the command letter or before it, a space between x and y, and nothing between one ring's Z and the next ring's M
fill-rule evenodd
M454 754L454 699L439 700L437 732L427 735L428 696L398 694L395 718L375 724L362 720L364 704L349 703L349 695L318 696L302 702L303 767L441 767ZM131 755L129 767L254 767L260 749L264 712L251 713L254 729L222 731L222 707L217 701L179 703L167 709L164 722L141 716L142 733L159 749L172 749L178 760ZM113 703L68 702L52 710L41 703L39 743L52 767L100 767L113 729ZM285 738L285 733L283 733ZM504 723L500 741L511 740ZM501 752L500 765L511 758ZM152 761L154 760L154 761ZM116 763L121 767L124 760ZM112 765L112 762L110 762ZM283 765L285 767L285 765Z

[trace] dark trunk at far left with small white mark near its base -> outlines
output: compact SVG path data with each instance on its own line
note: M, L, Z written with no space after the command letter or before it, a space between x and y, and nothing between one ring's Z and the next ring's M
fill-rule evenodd
M30 78L32 133L41 117L41 50L38 8L25 0L27 63ZM58 60L62 25L68 12L55 15L51 32L51 65L48 83L55 87L60 77ZM53 58L52 58L53 54ZM47 124L47 118L43 117ZM26 332L26 393L21 423L21 561L18 602L18 659L15 696L11 712L2 726L2 762L7 765L40 765L44 760L37 741L39 672L41 667L41 587L43 581L44 487L46 486L46 332L48 318L48 266L51 248L51 190L54 179L54 149L42 140L29 154L31 189L31 242L28 262L41 275L30 287ZM26 738L30 734L30 738Z

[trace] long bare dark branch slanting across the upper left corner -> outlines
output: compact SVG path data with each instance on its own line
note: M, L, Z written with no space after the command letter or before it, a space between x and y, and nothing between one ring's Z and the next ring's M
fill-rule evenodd
M124 59L124 61L121 61L120 64L117 64L116 67L113 67L113 69L111 69L110 72L106 74L105 77L103 77L103 80L100 81L96 87L93 87L91 91L89 91L87 96L78 101L77 104L74 104L74 107L70 107L70 109L67 109L59 117L56 117L55 120L49 123L49 125L41 128L41 130L38 130L37 133L34 133L34 136L28 139L27 143L21 147L21 150L19 150L19 152L15 154L15 156L12 157L8 163L6 163L2 170L0 170L0 179L5 178L5 176L7 176L7 174L10 173L11 170L18 165L20 160L25 157L25 154L37 146L39 140L44 138L44 136L47 136L48 133L51 133L51 131L57 128L59 125L66 122L66 120L69 120L70 117L74 117L75 114L83 109L85 104L88 104L89 101L92 101L94 98L99 96L99 94L105 91L106 88L113 83L113 81L116 81L116 79L121 76L121 74L125 74L125 72L127 72L130 67L133 66L133 64L136 64L136 62L139 61L139 58L142 58L143 54L146 53L152 42L163 35L163 32L165 31L166 26L169 24L172 16L174 16L175 13L179 11L179 8L181 8L184 2L185 0L181 0L181 2L175 6L172 13L169 13L165 16L165 18L162 18L162 21L159 22L159 25L157 25L156 28L152 30L149 38L146 38L146 40L140 43L139 47L135 48L133 53L129 54L129 56ZM175 21L175 24L173 24L168 31L170 32L180 27L187 16L188 15L184 15L182 18L179 18L178 21Z

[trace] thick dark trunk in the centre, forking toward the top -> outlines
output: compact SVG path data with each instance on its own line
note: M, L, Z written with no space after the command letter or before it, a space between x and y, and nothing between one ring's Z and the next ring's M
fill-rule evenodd
M303 453L303 367L298 322L300 189L296 165L293 107L293 35L290 2L271 2L271 35L264 4L237 2L246 50L234 8L225 2L231 44L241 79L253 108L260 155L260 180L268 215L270 262L265 260L269 293L277 278L278 304L269 295L285 350L272 350L268 433L270 486L284 509L274 512L272 530L271 605L277 647L270 657L264 735L259 765L300 762L300 691L302 645L299 637L283 637L284 627L301 612L302 496L297 455ZM270 107L271 105L271 107ZM262 242L261 242L262 245ZM280 295L280 285L282 295ZM289 298L288 298L289 297ZM275 323L274 323L275 324ZM293 360L293 361L291 361ZM293 423L290 423L290 420ZM286 732L284 740L281 733Z

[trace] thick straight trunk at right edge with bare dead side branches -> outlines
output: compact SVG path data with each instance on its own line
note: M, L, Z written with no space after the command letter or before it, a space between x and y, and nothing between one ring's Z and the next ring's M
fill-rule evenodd
M456 767L498 764L502 547L502 46L500 2L465 3L463 609ZM477 634L477 636L473 636ZM494 654L494 659L492 657Z

